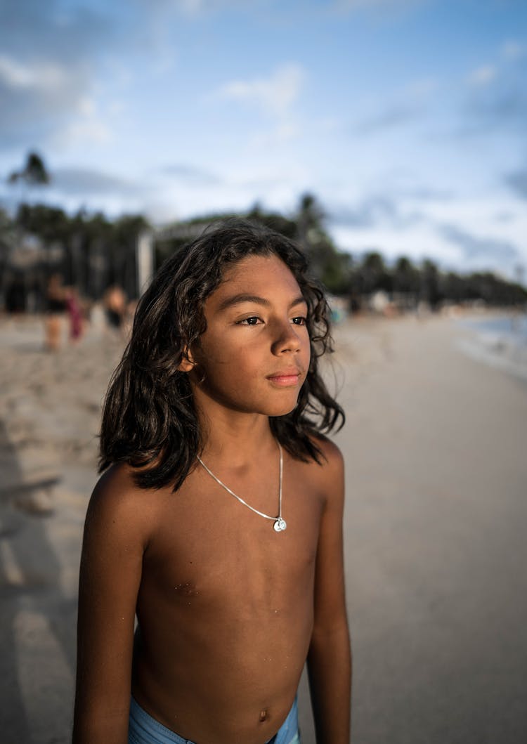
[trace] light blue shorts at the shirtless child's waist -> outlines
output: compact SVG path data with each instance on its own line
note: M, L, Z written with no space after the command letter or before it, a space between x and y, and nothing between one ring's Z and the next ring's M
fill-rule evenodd
M132 698L130 701L128 744L194 744L194 742L174 734L173 731L170 731L170 728L166 728L150 716L147 711L144 711L141 705L138 705ZM296 699L278 733L267 744L301 744Z

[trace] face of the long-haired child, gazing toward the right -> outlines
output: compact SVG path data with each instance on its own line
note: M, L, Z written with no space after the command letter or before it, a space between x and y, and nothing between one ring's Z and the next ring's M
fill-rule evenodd
M307 304L276 256L249 256L228 269L205 301L207 330L191 349L197 402L283 416L296 406L310 364Z

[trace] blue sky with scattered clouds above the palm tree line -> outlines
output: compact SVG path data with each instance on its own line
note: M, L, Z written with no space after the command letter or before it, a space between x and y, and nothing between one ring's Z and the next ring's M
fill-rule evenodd
M0 0L0 200L156 224L314 193L336 244L527 272L525 0ZM525 275L524 275L525 277ZM527 277L525 277L527 278Z

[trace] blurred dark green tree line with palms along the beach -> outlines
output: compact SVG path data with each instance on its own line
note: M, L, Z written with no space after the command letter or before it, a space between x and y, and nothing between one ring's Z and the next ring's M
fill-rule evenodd
M29 189L46 185L50 176L42 159L30 153L25 166L7 180ZM26 294L33 292L37 298L34 309L41 310L43 286L51 273L58 273L64 283L77 286L91 300L100 299L115 283L134 298L138 294L135 246L141 232L152 234L159 266L206 225L234 216L261 222L296 240L316 278L332 295L345 298L352 310L365 307L379 291L408 310L420 302L432 310L445 303L482 301L490 306L511 306L527 302L525 287L493 272L443 272L430 259L413 263L406 256L389 265L380 251L358 255L342 251L325 227L322 205L308 193L289 215L266 211L257 204L243 215L208 214L162 229L154 229L141 214L109 219L101 212L80 210L70 215L62 208L21 200L13 216L0 208L0 292L4 304L10 286L18 283Z

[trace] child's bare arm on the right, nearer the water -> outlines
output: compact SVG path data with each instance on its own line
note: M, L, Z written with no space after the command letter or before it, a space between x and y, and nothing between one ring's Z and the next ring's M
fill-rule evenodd
M307 655L317 744L349 744L351 650L342 547L344 467L339 449L324 443L328 498L316 558L314 624Z

